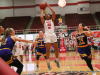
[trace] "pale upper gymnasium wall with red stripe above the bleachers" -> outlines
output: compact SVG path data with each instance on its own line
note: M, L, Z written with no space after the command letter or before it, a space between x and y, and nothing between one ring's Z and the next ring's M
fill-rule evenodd
M40 16L41 10L39 4L45 0L0 0L0 18L12 16ZM56 14L65 15L68 13L94 13L100 11L99 0L66 0L67 4L62 9L58 6L58 0L46 0L52 6ZM88 10L80 11L81 7ZM46 8L46 13L52 13Z

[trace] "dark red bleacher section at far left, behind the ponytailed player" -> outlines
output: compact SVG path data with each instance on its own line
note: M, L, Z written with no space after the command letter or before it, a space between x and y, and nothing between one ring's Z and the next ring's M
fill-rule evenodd
M15 30L25 29L30 16L22 16L22 17L5 17L4 20L0 23L5 29L13 28Z

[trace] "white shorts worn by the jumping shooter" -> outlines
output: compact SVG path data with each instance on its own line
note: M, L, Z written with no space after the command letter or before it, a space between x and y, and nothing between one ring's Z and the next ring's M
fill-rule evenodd
M45 33L44 43L55 43L57 42L57 36L55 33Z

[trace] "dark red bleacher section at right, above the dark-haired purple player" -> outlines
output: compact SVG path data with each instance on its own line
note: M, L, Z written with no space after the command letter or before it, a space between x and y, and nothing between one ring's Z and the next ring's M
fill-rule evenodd
M84 23L86 26L96 25L91 14L65 14L65 24L68 27L78 26L79 23Z

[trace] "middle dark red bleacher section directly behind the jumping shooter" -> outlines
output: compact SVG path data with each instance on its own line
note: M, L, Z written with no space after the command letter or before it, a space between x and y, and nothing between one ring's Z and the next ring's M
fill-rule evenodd
M59 17L60 17L60 14L57 14L56 18L55 18L55 22L54 22L55 26L58 25L57 20L58 20ZM35 17L30 29L40 29L40 28L44 28L44 26L41 23L40 17Z

